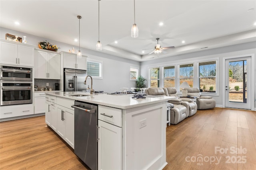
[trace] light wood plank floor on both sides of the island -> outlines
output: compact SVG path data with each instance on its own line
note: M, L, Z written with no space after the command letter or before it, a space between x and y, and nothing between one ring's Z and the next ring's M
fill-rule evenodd
M0 123L0 169L89 170L46 127L44 119L40 116ZM233 154L237 148L243 153ZM201 162L197 159L200 156ZM167 126L166 157L164 170L256 170L256 112L200 110L177 125Z

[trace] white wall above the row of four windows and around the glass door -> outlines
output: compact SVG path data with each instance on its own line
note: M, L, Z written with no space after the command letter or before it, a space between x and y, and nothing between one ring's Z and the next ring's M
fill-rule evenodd
M141 63L140 66L140 73L142 76L148 78L148 69L149 67L153 66L166 66L168 64L176 64L176 63L188 63L188 62L194 62L198 60L208 60L208 59L219 59L219 94L217 96L212 96L216 100L216 105L219 107L224 107L222 106L223 104L223 88L225 86L223 82L223 76L224 76L224 70L223 70L223 58L226 57L236 57L236 56L244 56L248 55L250 56L251 54L254 55L254 70L252 70L252 78L254 79L252 82L252 91L254 92L254 95L252 96L252 99L254 101L254 106L252 108L256 107L256 41L250 42L250 43L243 43L240 45L232 45L228 47L221 47L221 48L216 48L216 49L209 49L209 50L204 50L200 52L194 52L194 53L188 53L184 55L176 55L172 57L161 57L156 60L151 60L151 61L144 61ZM256 109L255 109L256 110Z

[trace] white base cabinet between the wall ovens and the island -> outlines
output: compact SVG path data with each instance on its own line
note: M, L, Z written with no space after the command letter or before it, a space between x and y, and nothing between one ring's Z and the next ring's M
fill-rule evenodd
M45 102L44 92L34 92L34 114L45 113L45 106L42 103Z

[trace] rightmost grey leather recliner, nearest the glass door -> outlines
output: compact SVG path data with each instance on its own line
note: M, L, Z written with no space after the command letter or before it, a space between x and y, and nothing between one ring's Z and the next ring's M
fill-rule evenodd
M188 90L188 96L196 96L197 109L212 109L216 106L216 101L212 96L202 96L199 88L185 88Z

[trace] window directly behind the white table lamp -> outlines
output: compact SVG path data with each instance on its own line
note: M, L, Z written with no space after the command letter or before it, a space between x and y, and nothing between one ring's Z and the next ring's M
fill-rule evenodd
M180 65L180 85L182 82L187 82L190 87L193 87L194 67L193 64ZM180 88L182 91L182 88Z

